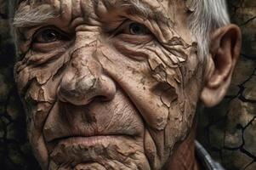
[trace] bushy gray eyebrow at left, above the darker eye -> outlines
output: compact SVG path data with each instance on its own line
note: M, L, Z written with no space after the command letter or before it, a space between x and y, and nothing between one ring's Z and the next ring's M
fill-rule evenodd
M38 26L57 16L58 14L54 11L54 8L48 4L29 9L28 6L21 6L14 14L13 26L15 28Z

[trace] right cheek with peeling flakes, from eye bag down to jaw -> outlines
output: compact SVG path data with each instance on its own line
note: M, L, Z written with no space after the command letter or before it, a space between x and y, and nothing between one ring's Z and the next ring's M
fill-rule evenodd
M105 57L100 57L100 62L148 125L145 152L157 167L168 159L174 144L185 138L193 122L199 92L195 50L189 45L167 50L156 43L139 50L123 48L122 53L101 48ZM133 53L135 58L130 57ZM156 152L160 155L158 161Z

